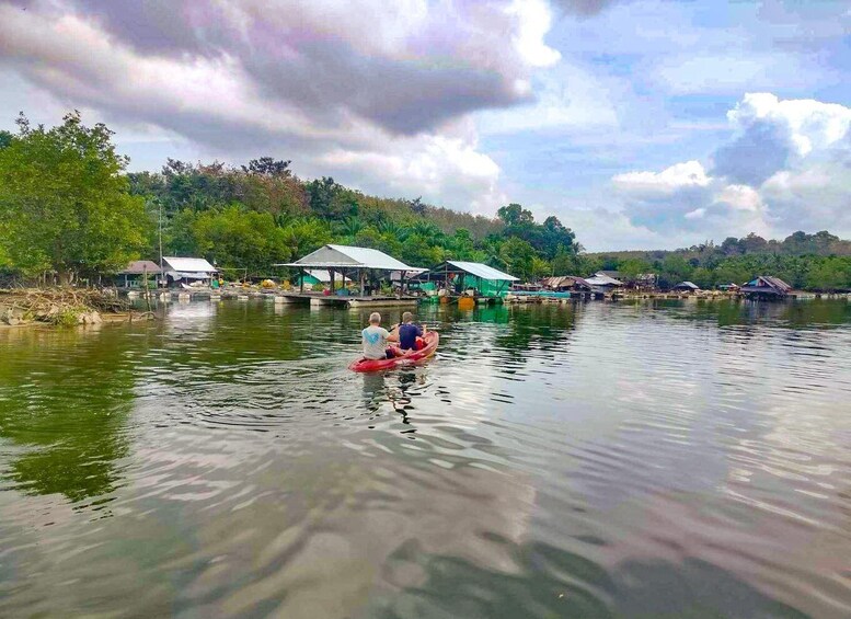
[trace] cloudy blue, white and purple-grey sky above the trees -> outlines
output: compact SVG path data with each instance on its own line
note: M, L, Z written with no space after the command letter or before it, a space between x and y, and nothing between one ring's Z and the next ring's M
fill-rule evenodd
M847 1L0 0L0 128L76 107L134 170L271 154L589 250L851 238L849 69Z

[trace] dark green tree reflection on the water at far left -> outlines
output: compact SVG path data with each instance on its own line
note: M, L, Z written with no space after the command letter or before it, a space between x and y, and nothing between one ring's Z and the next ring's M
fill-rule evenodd
M127 454L123 426L134 400L127 343L112 328L30 331L3 342L0 437L26 448L3 477L24 492L71 501L116 486L115 461Z

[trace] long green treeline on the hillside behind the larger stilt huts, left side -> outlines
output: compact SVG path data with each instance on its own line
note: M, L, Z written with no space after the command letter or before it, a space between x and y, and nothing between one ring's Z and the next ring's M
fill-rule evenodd
M78 113L62 125L0 133L0 268L62 279L106 275L137 257L203 256L222 271L271 274L335 242L387 252L412 266L485 262L522 278L550 274L577 253L555 217L536 222L517 204L487 218L365 195L332 177L302 180L290 161L244 165L169 159L159 172L126 173L104 125Z

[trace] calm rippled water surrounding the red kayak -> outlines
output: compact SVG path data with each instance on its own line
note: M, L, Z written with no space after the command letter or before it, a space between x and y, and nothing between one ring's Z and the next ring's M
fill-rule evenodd
M851 303L421 316L0 331L0 616L851 615Z

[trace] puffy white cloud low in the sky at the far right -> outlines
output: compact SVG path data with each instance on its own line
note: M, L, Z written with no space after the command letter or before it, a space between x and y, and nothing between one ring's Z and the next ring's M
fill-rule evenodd
M727 116L736 133L710 172L688 161L612 177L633 223L716 239L851 232L851 108L752 93Z

